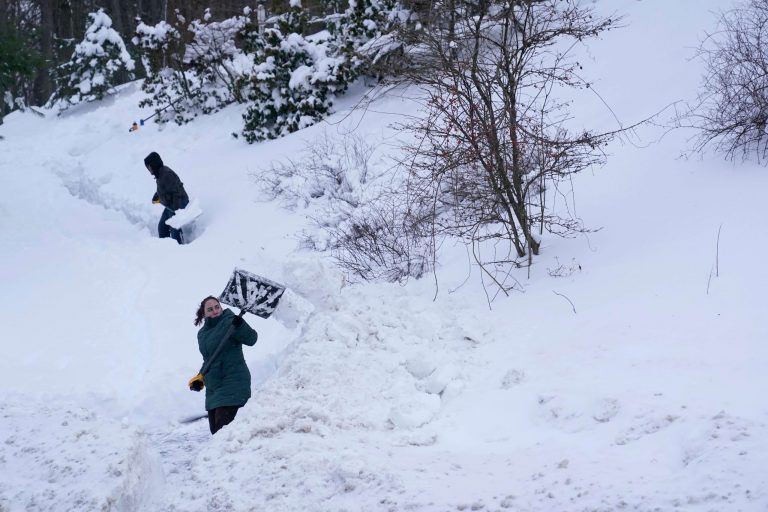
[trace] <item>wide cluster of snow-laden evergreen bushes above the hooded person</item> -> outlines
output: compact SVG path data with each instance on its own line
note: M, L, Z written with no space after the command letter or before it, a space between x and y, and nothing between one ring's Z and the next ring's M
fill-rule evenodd
M234 102L245 103L243 138L282 137L331 111L365 69L358 50L391 25L396 0L347 0L340 14L310 20L301 0L254 23L251 9L222 21L140 23L134 44L142 51L147 98L160 123L183 124ZM254 16L257 17L257 16ZM327 30L313 35L310 22Z

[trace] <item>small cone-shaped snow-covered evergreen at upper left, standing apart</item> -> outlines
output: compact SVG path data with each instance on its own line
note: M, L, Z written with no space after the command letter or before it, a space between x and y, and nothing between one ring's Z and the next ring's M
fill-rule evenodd
M112 19L99 9L88 15L85 38L57 72L54 99L76 104L100 100L120 83L133 79L135 63ZM66 105L66 104L65 104Z

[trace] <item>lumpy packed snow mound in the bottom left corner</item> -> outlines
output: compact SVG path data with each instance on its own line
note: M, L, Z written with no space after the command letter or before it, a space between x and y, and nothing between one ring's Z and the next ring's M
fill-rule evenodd
M143 433L74 403L0 402L0 510L152 510L160 459Z

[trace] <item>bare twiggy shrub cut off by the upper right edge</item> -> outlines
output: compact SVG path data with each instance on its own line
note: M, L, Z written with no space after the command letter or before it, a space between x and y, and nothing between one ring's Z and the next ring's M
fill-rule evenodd
M697 55L705 74L698 103L678 126L698 130L693 151L711 146L729 159L768 157L768 2L748 0L721 12Z

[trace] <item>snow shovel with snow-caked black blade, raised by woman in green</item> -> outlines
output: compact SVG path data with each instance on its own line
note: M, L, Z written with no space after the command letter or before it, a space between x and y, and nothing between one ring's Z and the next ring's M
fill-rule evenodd
M242 318L246 312L252 313L262 318L269 318L275 311L277 303L280 301L285 292L283 285L277 284L274 281L270 281L264 277L252 274L245 270L235 269L232 273L232 277L229 278L227 286L219 296L219 302L227 304L228 306L234 306L240 308L240 314L238 317ZM196 376L189 381L189 389L192 391L200 391L203 389L203 382L205 374L211 367L211 364L216 360L221 351L229 341L230 336L235 331L235 325L232 324L227 329L224 337L221 338L219 345L213 352L213 355L203 365ZM202 418L208 417L208 414L195 415L188 418L181 419L181 423L190 423Z

